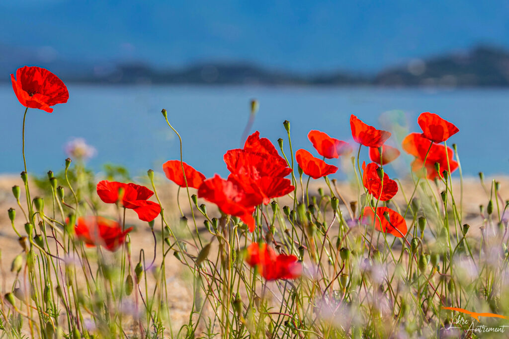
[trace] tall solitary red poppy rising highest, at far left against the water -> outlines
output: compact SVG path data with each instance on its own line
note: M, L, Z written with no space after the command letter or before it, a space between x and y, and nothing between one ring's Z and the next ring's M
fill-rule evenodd
M56 75L40 67L22 67L11 74L12 88L21 105L53 112L49 106L66 103L69 92Z

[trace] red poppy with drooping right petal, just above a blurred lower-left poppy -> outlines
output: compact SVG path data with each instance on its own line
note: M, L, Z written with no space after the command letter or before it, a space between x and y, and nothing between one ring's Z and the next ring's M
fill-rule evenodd
M123 191L122 197L119 197L120 190ZM107 204L115 204L121 200L122 206L134 210L139 220L152 221L161 212L158 203L147 200L154 192L135 183L102 180L97 184L97 194Z

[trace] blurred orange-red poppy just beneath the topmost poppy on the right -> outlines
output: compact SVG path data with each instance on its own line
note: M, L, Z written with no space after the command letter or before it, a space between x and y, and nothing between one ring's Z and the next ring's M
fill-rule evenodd
M453 160L454 151L447 147L445 151L444 145L438 145L433 143L431 140L423 137L419 133L410 133L403 139L403 149L415 157L412 162L412 171L417 172L420 175L422 170L426 170L426 177L428 179L441 178L444 170L454 172L458 168L458 163ZM426 163L424 160L426 159ZM435 164L439 164L439 170L437 172Z

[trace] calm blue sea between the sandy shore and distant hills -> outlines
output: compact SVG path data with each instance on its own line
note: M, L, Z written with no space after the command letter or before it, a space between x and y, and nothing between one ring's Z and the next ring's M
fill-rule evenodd
M277 147L288 140L282 122L291 122L294 151L305 148L315 155L307 133L321 130L352 142L350 114L393 133L389 144L401 149L409 132L418 132L417 116L431 111L453 122L460 132L456 143L465 175L509 173L508 89L392 89L330 87L201 87L201 86L99 86L68 84L69 101L54 106L53 113L29 109L26 118L26 158L29 172L44 174L64 168L65 145L84 138L96 148L88 161L95 171L104 163L120 164L133 175L148 169L162 172L166 160L179 158L179 142L168 128L161 109L183 139L184 161L206 176L227 175L222 156L241 145L249 117L249 101L260 110L251 131L259 130ZM21 124L24 107L12 87L0 86L2 102L0 173L19 173ZM354 146L357 150L357 146ZM317 156L317 155L316 155ZM367 150L361 152L367 160ZM410 157L392 164L403 177ZM349 159L328 161L340 165L337 177L347 175ZM457 175L457 173L455 173Z

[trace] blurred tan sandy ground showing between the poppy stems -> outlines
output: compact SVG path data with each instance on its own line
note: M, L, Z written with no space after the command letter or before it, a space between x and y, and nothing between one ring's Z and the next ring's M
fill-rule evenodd
M502 202L500 203L500 208L503 209L506 200L509 200L509 177L497 177L497 178L486 178L485 183L488 189L488 194L491 186L491 179L496 179L500 182L500 198ZM176 196L177 196L177 187L173 183L169 183L167 180L158 180L157 184L158 194L162 200L163 206L165 207L165 213L168 218L168 221L173 223L173 226L178 229L178 220L180 217L180 212L176 206ZM20 233L24 233L24 219L23 215L16 204L16 200L14 199L11 188L14 184L22 187L22 181L17 175L2 175L0 176L0 251L1 251L1 265L2 271L5 272L2 276L2 295L5 294L5 289L8 290L12 286L12 281L14 279L13 273L9 271L11 262L13 258L21 253L21 247L18 243L18 237L12 230L10 225L10 221L8 218L7 210L10 207L13 207L17 211L17 218L15 226ZM145 183L146 184L146 183ZM432 186L433 183L431 182ZM147 185L150 187L150 185ZM323 180L312 180L310 183L310 195L316 194L317 189L321 187L327 193L328 188ZM351 201L357 200L357 187L354 183L347 182L337 182L338 190L341 192L347 203ZM455 192L455 198L457 203L460 200L460 184L459 180L455 179L453 181L453 187ZM403 191L405 192L406 198L410 197L412 194L413 186L411 183L403 183ZM191 193L194 193L194 190L191 190ZM298 197L301 198L301 191L299 187ZM438 194L438 192L436 193ZM35 196L35 194L32 194ZM288 198L287 198L288 199ZM21 197L21 204L23 207L24 197ZM155 199L154 199L155 200ZM485 189L481 186L478 178L466 178L464 180L464 190L463 190L463 216L464 222L469 223L471 226L471 233L469 235L475 236L479 234L479 227L483 224L483 219L479 215L479 205L487 205L489 201L489 195ZM397 195L395 202L400 206L404 206L404 198L402 191ZM191 217L189 210L189 203L187 200L187 196L185 194L185 190L180 193L180 203L181 206L189 219L189 224L191 225ZM281 207L285 204L291 205L290 201L279 201ZM218 216L217 209L213 204L208 205L208 212L211 216ZM48 206L48 205L46 205ZM106 207L106 206L105 206ZM344 207L343 207L344 208ZM495 208L495 213L497 209ZM105 208L101 211L104 215L111 215L111 217L115 218L115 209L114 208ZM346 212L346 211L345 211ZM152 259L152 255L154 252L154 239L152 237L152 233L148 228L146 223L139 222L136 214L133 211L127 212L126 215L127 224L132 224L135 226L135 230L131 233L132 240L132 253L133 256L139 253L140 249L144 249L147 253L147 257ZM159 226L158 226L159 224ZM203 219L197 218L198 226L203 230ZM409 225L410 226L410 225ZM156 223L156 228L160 229L160 223ZM185 234L185 230L179 230L181 234ZM159 248L156 250L159 251ZM160 252L158 252L160 257ZM184 324L188 319L189 310L192 304L192 285L186 276L189 274L185 274L184 270L188 270L185 266L183 266L174 256L169 255L166 261L166 273L167 273L167 281L168 281L168 297L169 297L169 309L172 318L172 326L174 330L179 328L182 324ZM137 260L137 259L134 259ZM160 260L160 258L159 258Z

